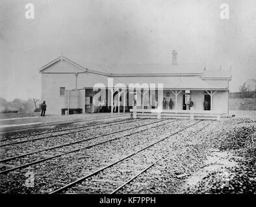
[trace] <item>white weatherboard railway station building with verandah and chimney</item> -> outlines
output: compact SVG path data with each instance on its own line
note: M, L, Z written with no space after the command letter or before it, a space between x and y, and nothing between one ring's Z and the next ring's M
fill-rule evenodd
M42 100L47 114L123 113L141 115L162 110L164 116L229 114L231 69L209 70L200 64L177 64L177 52L170 64L96 65L77 63L64 56L40 68ZM126 71L120 73L118 71ZM153 72L152 72L153 71ZM168 103L172 99L172 109ZM189 100L194 103L188 107Z

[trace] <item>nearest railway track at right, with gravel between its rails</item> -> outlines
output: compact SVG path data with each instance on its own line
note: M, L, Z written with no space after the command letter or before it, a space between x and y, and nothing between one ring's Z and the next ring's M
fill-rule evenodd
M61 193L63 191L67 191L70 190L71 188L73 188L73 191L75 191L75 193L77 192L83 192L90 189L90 192L92 193L99 193L99 191L101 190L101 193L116 193L117 191L121 190L124 186L126 186L127 184L129 184L130 182L132 182L134 179L136 179L136 177L138 177L139 175L142 175L142 173L144 173L145 171L147 171L147 169L151 168L153 165L155 165L157 162L159 162L159 160L161 160L162 158L166 157L167 155L169 155L172 151L170 151L170 147L172 146L172 144L170 143L165 143L162 144L162 146L160 147L160 149L166 149L168 152L164 153L164 155L158 155L159 154L159 148L156 148L155 150L152 149L154 148L157 144L160 144L161 142L166 141L168 138L172 137L173 135L177 135L178 133L181 133L183 131L185 131L186 129L190 128L192 125L196 125L201 121L195 122L193 124L190 124L186 127L183 127L182 129L179 129L178 131L175 131L174 133L170 133L169 135L164 135L163 138L160 138L160 140L157 140L156 142L153 142L152 144L149 144L146 147L142 147L142 149L139 149L123 158L120 158L119 160L110 163L107 166L104 166L103 168L97 169L96 171L93 171L92 173L81 177L80 179L77 179L73 182L70 182L69 184L66 184L65 186L62 186L61 188L58 188L55 191L50 192L49 194L53 194L53 193ZM209 124L211 124L212 122L210 122ZM204 127L202 127L201 129L199 129L198 131L194 132L192 136L196 135L199 131L203 130L205 127L207 127L209 124L206 124ZM168 147L166 147L168 146ZM153 151L150 155L155 158L155 160L153 162L151 162L151 164L147 165L147 166L143 166L145 163L140 163L140 164L136 164L137 166L143 166L142 169L138 170L135 172L135 175L131 176L130 174L126 177L126 179L122 180L114 180L110 177L109 173L107 173L104 177L104 175L102 175L101 177L99 177L99 179L94 179L94 177L96 175L99 175L100 173L103 173L104 171L110 170L111 168L113 168L114 166L127 161L131 158L136 158L136 156L138 156L140 153L147 151L148 149L151 149L151 151ZM173 149L173 148L172 148ZM144 157L146 157L146 159L148 158L148 152L147 155ZM143 154L142 154L143 157ZM140 158L142 158L140 157ZM140 160L137 157L137 160ZM143 160L143 159L142 159ZM132 162L133 163L133 159ZM129 164L127 165L127 168L124 170L126 172L129 172L131 169L131 164L129 166ZM120 167L116 167L114 168L114 172L116 173L116 171L119 170L120 173ZM123 175L123 171L121 171L122 175ZM104 174L104 173L103 173ZM116 173L118 174L118 173ZM112 174L111 174L112 175ZM91 180L90 180L91 179ZM112 180L111 180L112 179ZM90 182L92 181L92 182ZM82 183L81 185L77 186L79 183ZM109 184L106 184L109 183ZM106 187L107 186L107 187Z

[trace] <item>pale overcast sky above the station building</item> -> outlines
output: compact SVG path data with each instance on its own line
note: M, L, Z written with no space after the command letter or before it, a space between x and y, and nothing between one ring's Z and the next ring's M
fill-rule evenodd
M34 19L25 19L27 3L34 4ZM229 19L220 19L222 3L229 4ZM61 53L88 63L170 63L175 49L180 63L215 69L232 65L231 91L256 79L255 0L0 4L0 97L7 100L40 98L38 69Z

